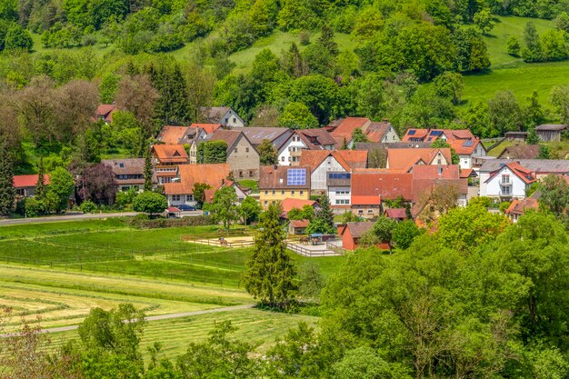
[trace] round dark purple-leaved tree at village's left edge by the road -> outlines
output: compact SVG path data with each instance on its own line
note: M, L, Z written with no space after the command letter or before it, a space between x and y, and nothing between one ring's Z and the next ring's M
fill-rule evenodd
M104 164L85 168L77 191L82 200L91 200L95 204L112 205L118 188L113 169Z

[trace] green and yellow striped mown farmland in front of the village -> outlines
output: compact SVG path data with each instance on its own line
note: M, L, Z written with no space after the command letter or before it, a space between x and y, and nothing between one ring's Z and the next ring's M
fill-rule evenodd
M132 303L147 315L176 314L254 304L240 283L249 248L192 244L183 236L216 232L215 226L138 230L121 219L0 227L0 307L13 309L9 330L20 316L43 328L79 324L89 310ZM334 274L344 257L306 258L324 276ZM40 317L39 319L37 317ZM317 317L246 309L152 321L145 346L164 343L164 354L183 354L187 344L207 337L214 322L231 319L259 349L273 344L298 321ZM55 344L76 332L52 334Z

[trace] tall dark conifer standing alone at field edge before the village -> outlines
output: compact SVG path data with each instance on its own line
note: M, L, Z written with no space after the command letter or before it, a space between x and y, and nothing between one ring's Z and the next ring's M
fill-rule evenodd
M283 208L270 204L260 216L260 233L255 249L247 261L245 289L261 304L280 309L294 304L297 284L294 265L284 245L284 230L280 224Z

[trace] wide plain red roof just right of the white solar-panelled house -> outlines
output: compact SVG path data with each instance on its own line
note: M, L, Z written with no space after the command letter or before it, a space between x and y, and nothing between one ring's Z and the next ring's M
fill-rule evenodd
M352 175L352 204L379 204L403 196L413 199L413 174L381 174L373 172Z

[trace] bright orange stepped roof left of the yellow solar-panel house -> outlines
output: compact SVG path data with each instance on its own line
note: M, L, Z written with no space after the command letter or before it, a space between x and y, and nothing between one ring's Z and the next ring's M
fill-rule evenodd
M227 164L180 165L180 181L165 183L165 194L194 194L196 183L205 183L217 189L225 183L231 172Z

